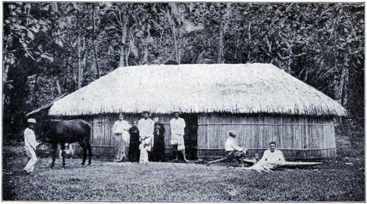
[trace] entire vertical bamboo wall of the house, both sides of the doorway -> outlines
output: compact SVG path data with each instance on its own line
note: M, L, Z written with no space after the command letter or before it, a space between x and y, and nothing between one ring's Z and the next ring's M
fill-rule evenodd
M166 154L171 154L170 115L153 115L159 117L166 129L164 142ZM138 114L127 114L124 120L129 123L139 120ZM92 127L91 144L93 155L113 154L112 126L118 120L117 114L102 114L83 118ZM260 156L275 141L286 158L334 158L335 131L333 118L317 118L304 116L243 116L231 114L200 114L197 119L197 157L218 158L225 156L224 144L229 129L238 133L237 144L248 148L248 155ZM188 122L186 122L187 124ZM185 128L185 146L187 140L195 141L196 133L189 135ZM187 138L189 136L190 138ZM195 144L196 147L196 144ZM74 148L81 153L76 143Z

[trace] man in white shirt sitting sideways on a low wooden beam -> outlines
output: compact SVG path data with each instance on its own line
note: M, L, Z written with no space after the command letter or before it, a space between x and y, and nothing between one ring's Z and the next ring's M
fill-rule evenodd
M245 148L241 148L241 147L237 146L235 138L236 138L235 132L234 131L229 131L229 137L228 137L228 139L226 140L226 143L225 143L225 149L226 149L226 152L227 152L226 157L222 158L222 159L211 161L211 162L207 163L206 166L210 166L213 163L221 162L221 161L224 161L224 160L235 160L236 164L239 167L242 167L243 166L243 159L245 158L247 150ZM237 161L237 159L240 159L240 163Z

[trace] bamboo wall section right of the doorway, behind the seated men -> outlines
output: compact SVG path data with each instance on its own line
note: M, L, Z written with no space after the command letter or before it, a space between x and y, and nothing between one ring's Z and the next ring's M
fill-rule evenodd
M275 141L286 158L335 157L332 118L304 116L241 116L203 114L198 119L198 157L225 155L230 129L237 132L237 144L260 155Z

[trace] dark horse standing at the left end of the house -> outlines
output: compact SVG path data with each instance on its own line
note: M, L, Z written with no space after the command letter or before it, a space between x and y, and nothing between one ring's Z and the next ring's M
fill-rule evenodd
M79 142L84 153L81 165L84 166L86 162L87 150L89 153L88 166L91 165L91 127L85 120L46 120L41 123L41 129L44 139L48 140L47 143L50 143L54 150L51 169L54 167L55 159L58 156L57 144L61 144L62 150L65 150L65 143ZM62 154L62 166L65 167L65 154Z

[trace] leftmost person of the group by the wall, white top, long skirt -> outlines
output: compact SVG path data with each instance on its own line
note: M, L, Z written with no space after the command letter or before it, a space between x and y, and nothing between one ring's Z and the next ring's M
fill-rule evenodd
M130 140L128 130L130 124L124 120L124 114L119 114L119 120L112 126L112 132L115 139L115 162L123 161L126 157L126 146Z

